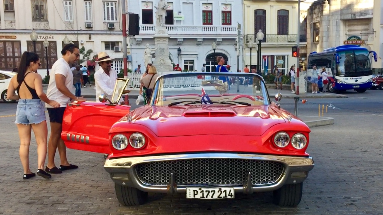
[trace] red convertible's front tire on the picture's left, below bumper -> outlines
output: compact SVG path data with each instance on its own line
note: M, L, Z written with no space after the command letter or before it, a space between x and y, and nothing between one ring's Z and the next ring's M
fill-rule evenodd
M134 187L125 187L115 183L115 190L121 205L142 205L147 200L147 192Z

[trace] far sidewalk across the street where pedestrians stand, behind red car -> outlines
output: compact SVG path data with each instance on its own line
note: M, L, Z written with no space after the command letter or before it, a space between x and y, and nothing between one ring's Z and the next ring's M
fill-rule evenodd
M243 87L243 85L241 85L241 87ZM44 89L44 92L46 92L47 84L43 84L43 89ZM75 88L73 87L72 89L70 89L70 91L74 94ZM270 98L274 98L275 94L277 94L277 92L278 92L275 89L275 85L273 85L273 84L267 84L267 91L268 91ZM177 91L177 92L179 92L179 91ZM282 94L282 98L294 98L296 96L300 97L300 98L347 98L346 95L332 94L332 93L320 93L320 94L306 93L306 94L295 95L295 94L291 93L290 85L288 85L286 87L283 86L283 90L280 90L279 92ZM96 98L95 86L92 85L92 87L88 86L85 88L81 88L81 95L84 98ZM139 95L139 89L135 88L132 90L132 92L129 93L129 98L137 98L138 95Z

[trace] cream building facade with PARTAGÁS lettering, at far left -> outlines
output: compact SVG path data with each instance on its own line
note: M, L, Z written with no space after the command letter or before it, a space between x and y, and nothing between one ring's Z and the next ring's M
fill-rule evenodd
M35 47L42 62L38 72L44 77L46 62L51 69L52 64L61 57L65 36L80 48L92 49L91 56L105 51L116 58L115 69L123 67L121 0L1 1L0 69L12 70L19 66L21 54L34 51ZM30 38L32 30L38 34L35 46ZM49 41L47 57L43 47L45 39ZM86 64L95 65L90 61L82 63Z

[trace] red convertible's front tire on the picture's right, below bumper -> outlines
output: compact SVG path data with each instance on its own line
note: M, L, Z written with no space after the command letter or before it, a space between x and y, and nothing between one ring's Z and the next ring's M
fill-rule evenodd
M297 206L302 199L303 182L299 184L286 184L274 190L274 203L279 206Z

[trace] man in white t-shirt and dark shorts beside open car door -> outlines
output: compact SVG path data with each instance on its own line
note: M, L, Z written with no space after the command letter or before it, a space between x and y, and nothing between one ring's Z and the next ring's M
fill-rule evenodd
M62 119L67 104L72 99L73 101L86 101L83 97L76 97L69 89L73 85L73 74L69 64L75 63L80 56L80 50L74 44L67 44L61 51L62 58L58 59L52 66L51 77L47 89L47 97L60 103L59 108L51 107L46 104L51 122L51 136L48 142L48 164L45 168L46 172L60 174L64 170L77 169L77 166L72 165L67 160L66 148L64 141L61 139ZM61 165L59 168L54 163L56 149L59 149Z

